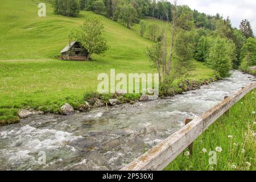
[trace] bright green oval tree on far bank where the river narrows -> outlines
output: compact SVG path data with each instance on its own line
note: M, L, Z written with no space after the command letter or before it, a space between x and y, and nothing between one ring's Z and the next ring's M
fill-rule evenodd
M229 53L230 49L226 44L226 39L217 37L213 41L213 46L209 51L208 64L212 66L215 73L221 77L230 76L232 68L232 58Z

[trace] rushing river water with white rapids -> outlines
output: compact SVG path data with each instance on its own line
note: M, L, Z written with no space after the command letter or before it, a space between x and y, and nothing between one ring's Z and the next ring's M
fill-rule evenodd
M98 108L70 116L45 114L0 127L2 170L120 169L225 96L255 82L232 77L165 100ZM42 156L46 154L46 164Z

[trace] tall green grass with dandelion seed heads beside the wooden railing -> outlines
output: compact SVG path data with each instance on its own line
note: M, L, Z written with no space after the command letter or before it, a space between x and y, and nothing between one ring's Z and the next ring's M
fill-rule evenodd
M180 154L164 170L256 170L256 89L237 102L194 142L193 155ZM229 138L228 136L232 136ZM217 165L209 165L209 151L217 152ZM203 152L203 148L207 152ZM251 165L250 165L251 164Z

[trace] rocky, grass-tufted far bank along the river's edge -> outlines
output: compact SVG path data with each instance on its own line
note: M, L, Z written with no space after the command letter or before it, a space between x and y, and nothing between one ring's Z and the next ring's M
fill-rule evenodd
M215 77L209 77L209 79L200 80L185 80L172 86L167 96L174 96L175 94L181 94L191 90L200 89L203 85L209 85L211 82L217 81ZM148 90L146 94L127 94L120 90L115 94L99 94L97 92L87 92L84 97L79 100L67 99L65 105L61 105L61 102L53 102L54 104L48 103L48 105L35 104L34 102L28 102L22 106L14 106L5 108L0 106L0 125L18 123L20 119L29 117L33 114L63 114L69 115L76 112L85 112L90 109L97 107L104 107L108 109L108 106L115 106L120 104L130 103L131 105L139 101L148 101L150 94L154 94L154 91ZM151 92L151 93L150 93ZM165 96L161 96L163 98ZM62 101L63 103L63 101ZM3 108L2 108L3 107ZM64 109L63 109L64 108ZM40 112L41 111L41 112Z

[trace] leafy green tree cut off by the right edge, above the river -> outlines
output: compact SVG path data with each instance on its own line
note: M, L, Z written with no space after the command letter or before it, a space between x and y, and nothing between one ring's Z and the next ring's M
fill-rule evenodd
M256 39L248 38L241 50L241 60L247 66L256 65Z

